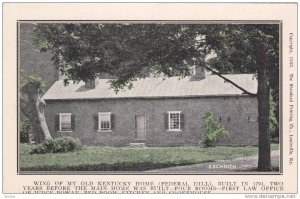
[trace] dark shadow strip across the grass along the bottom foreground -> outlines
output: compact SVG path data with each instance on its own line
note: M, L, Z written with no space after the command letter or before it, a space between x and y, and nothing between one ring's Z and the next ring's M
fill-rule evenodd
M213 161L203 161L213 162ZM161 169L167 167L192 165L198 163L192 162L164 162L164 163L152 163L152 162L120 162L115 164L81 164L75 166L66 165L51 165L51 166L34 166L22 168L21 171L146 171L152 169Z

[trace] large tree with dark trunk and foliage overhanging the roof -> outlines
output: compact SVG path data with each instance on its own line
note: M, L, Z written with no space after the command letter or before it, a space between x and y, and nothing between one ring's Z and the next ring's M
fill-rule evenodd
M40 50L52 51L66 84L107 73L115 77L110 83L116 91L149 72L190 75L194 65L215 53L206 69L258 99L258 170L266 171L271 169L267 70L278 69L278 32L277 24L38 24L35 42ZM224 72L255 73L258 93L228 80ZM276 79L272 84L276 87Z

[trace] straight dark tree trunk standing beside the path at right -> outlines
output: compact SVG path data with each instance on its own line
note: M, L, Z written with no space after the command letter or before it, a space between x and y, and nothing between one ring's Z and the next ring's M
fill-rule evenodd
M270 132L269 132L269 86L267 82L266 47L255 42L257 56L257 101L258 101L258 171L271 170Z

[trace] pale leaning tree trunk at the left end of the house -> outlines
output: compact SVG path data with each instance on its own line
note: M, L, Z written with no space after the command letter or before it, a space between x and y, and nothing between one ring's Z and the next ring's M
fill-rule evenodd
M39 95L29 95L28 99L20 98L20 107L24 115L29 119L34 133L35 143L52 139L48 130L44 115L44 102Z

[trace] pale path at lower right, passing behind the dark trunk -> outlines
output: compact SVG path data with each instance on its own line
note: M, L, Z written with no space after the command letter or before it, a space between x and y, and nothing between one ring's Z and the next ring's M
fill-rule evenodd
M279 166L279 150L271 152L272 166ZM169 167L163 169L148 170L146 172L192 172L192 173L228 173L228 172L251 172L257 167L258 156L242 157L232 160L217 160L215 162L207 162L193 164L187 166ZM275 173L278 173L275 172Z

